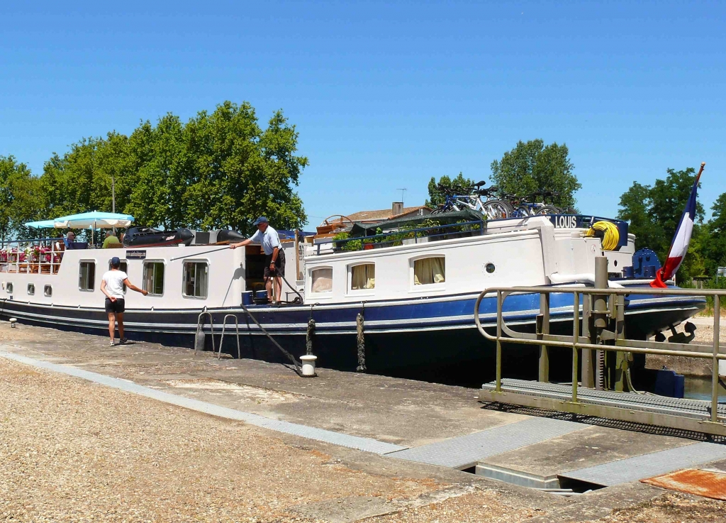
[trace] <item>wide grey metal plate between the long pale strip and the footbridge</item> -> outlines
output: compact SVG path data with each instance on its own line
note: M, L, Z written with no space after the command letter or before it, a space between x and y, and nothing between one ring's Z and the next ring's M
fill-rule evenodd
M399 450L388 453L388 456L457 469L492 455L526 447L589 426L553 418L529 418L467 436L444 439L423 447Z

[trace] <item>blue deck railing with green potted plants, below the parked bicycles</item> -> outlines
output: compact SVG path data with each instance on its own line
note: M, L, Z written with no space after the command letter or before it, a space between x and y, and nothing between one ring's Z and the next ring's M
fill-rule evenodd
M383 224L385 225L385 224ZM478 228L474 228L478 226ZM450 230L454 227L463 227L465 230ZM449 231L445 231L449 229ZM443 231L443 232L441 232ZM320 246L333 243L335 251L364 251L370 248L391 247L396 243L419 243L424 238L441 238L443 236L451 236L452 238L460 238L464 235L477 233L483 235L486 231L484 220L475 220L473 222L462 222L454 224L433 225L431 227L418 227L417 229L403 229L394 232L384 232L383 234L359 236L356 238L343 238L340 240L322 240L315 245L317 246L317 254L320 254ZM448 238L446 238L448 239ZM352 243L359 242L359 244Z

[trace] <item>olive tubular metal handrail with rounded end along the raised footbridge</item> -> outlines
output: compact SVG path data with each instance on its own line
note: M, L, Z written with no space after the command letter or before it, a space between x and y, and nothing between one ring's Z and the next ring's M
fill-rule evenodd
M481 307L481 301L487 295L496 293L497 296L497 333L492 336L484 329L481 325L481 318L479 308ZM538 293L540 296L549 296L552 293L571 293L573 295L573 335L569 336L556 336L559 339L552 339L542 333L541 336L530 335L529 333L518 333L511 331L504 323L502 318L502 304L503 301L510 294L521 294L521 293ZM600 345L592 343L581 343L580 338L580 295L587 297L592 300L594 296L609 296L611 299L611 305L606 310L592 310L593 314L604 314L611 317L622 317L624 315L624 299L616 301L616 296L628 296L630 294L635 295L656 295L656 296L713 296L714 298L714 339L713 344L709 347L706 345L696 345L697 347L711 348L711 352L698 352L688 350L673 350L673 349L659 349L658 344L666 342L658 341L638 341L639 345L648 346L629 346L627 342L629 340L625 338L617 339L615 345ZM502 392L502 339L507 343L516 344L527 344L527 345L539 345L539 346L559 346L571 348L573 351L573 367L572 367L572 402L577 402L577 349L595 349L595 350L607 350L614 352L635 352L640 354L659 354L664 356L681 356L681 357L697 357L711 360L711 422L719 423L718 421L718 387L719 387L719 373L718 373L718 362L719 360L726 360L726 354L722 354L719 351L719 335L720 335L720 301L721 298L726 297L725 290L717 289L674 289L674 288L572 288L572 287L492 287L482 291L476 299L474 304L474 322L476 328L486 339L495 341L497 344L497 369L496 369L496 387L495 392ZM549 301L542 301L546 303L547 313L549 312ZM591 301L592 303L592 301ZM542 312L542 311L540 311ZM614 312L614 314L613 314ZM508 336L502 336L502 331L507 331ZM554 336L553 336L554 337ZM563 341L562 338L569 338L569 341ZM676 344L673 344L677 346Z

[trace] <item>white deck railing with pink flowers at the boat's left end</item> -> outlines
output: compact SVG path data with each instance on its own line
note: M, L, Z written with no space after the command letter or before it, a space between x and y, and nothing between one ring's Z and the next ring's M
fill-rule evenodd
M5 241L7 247L0 249L0 272L56 274L64 252L56 248L59 241L62 242L63 238Z

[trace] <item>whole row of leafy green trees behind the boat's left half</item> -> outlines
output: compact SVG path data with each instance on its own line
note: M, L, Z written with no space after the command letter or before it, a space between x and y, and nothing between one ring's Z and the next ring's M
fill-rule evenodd
M0 236L30 219L111 211L112 179L116 211L140 225L248 234L265 215L275 227L301 227L307 217L294 187L308 159L297 148L281 110L263 129L249 103L224 102L187 122L169 113L129 136L83 138L54 153L40 177L0 157Z

